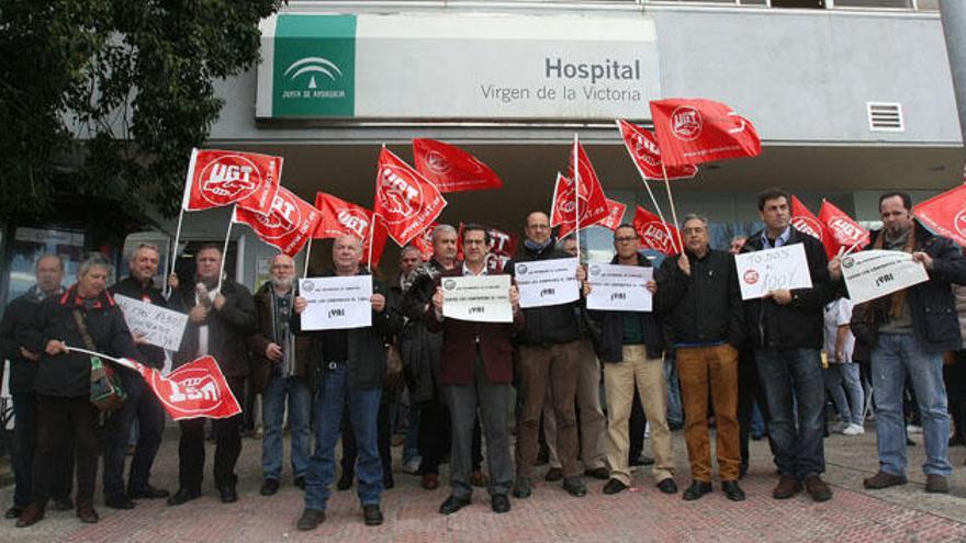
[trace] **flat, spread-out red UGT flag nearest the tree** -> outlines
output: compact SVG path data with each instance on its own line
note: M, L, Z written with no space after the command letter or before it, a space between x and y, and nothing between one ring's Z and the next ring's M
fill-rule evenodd
M193 149L181 207L199 211L235 204L268 213L281 177L282 157Z

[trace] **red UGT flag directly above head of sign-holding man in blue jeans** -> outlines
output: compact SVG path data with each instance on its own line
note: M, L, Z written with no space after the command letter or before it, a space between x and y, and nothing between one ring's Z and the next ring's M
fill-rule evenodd
M375 217L371 211L325 192L315 193L315 207L322 213L322 218L318 220L315 234L312 235L313 238L329 239L344 235L356 236L362 240L360 261L369 260L369 244L371 241L372 265L379 265L382 251L385 249L386 233L385 228L374 220ZM370 228L375 228L375 230L370 231Z

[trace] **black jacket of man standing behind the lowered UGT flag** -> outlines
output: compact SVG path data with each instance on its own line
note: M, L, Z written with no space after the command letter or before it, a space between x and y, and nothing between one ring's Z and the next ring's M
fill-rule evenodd
M195 302L194 283L182 285L171 295L171 307L189 313ZM222 282L225 305L212 307L207 320L207 353L218 363L226 377L244 377L249 373L248 336L255 333L255 301L244 285L228 279ZM181 366L198 355L199 325L188 320L181 350L175 357L175 366Z

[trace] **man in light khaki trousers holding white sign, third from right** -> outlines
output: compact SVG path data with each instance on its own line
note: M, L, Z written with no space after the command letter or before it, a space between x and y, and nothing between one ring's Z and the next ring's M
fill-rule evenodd
M640 240L631 225L620 225L614 231L617 254L610 263L650 268L651 262L640 254ZM658 284L649 281L651 294ZM586 285L584 292L589 294ZM600 323L597 354L604 362L604 388L607 391L607 463L610 480L604 494L618 494L630 487L628 422L634 399L634 386L640 393L644 415L651 425L651 450L654 453L654 475L658 488L664 494L677 491L674 482L674 449L667 427L667 382L664 376L664 335L662 325L651 312L591 312Z

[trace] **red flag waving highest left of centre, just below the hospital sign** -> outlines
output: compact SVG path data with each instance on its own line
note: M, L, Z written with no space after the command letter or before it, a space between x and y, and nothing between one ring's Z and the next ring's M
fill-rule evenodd
M499 189L503 181L476 157L436 139L413 139L413 163L439 192Z

